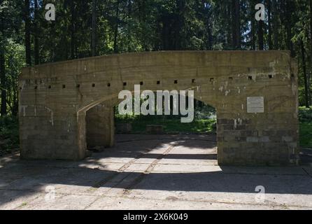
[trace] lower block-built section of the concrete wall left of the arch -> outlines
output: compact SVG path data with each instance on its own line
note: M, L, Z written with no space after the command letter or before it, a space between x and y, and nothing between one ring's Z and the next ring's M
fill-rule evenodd
M85 116L29 106L20 113L20 153L25 160L81 160L85 150ZM36 113L34 113L36 111ZM78 122L77 122L78 120Z

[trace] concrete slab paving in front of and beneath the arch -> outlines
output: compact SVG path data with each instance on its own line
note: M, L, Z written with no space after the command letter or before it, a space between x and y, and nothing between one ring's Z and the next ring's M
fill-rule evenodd
M312 167L220 167L213 136L117 140L80 162L1 159L0 209L312 209Z

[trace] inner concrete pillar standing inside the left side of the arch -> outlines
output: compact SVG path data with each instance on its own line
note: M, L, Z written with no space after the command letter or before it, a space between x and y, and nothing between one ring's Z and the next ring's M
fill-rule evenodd
M99 104L86 112L87 148L111 147L114 144L113 106Z

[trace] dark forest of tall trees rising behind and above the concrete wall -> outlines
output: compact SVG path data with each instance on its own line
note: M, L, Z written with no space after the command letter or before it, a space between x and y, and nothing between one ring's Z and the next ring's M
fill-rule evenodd
M55 4L56 20L45 20ZM255 20L264 3L266 20ZM311 102L312 0L0 0L1 116L17 115L23 66L120 52L290 50Z

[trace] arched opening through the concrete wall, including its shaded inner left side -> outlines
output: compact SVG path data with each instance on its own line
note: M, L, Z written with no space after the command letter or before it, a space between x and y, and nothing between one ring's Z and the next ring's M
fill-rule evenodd
M123 115L118 111L120 102L106 100L85 112L86 147L94 152L104 151L96 157L116 157L114 160L155 157L167 163L218 164L217 112L213 106L194 99L194 120L181 123L185 116L180 110L178 115L173 115L173 98L170 115L157 115L156 111L148 116Z

